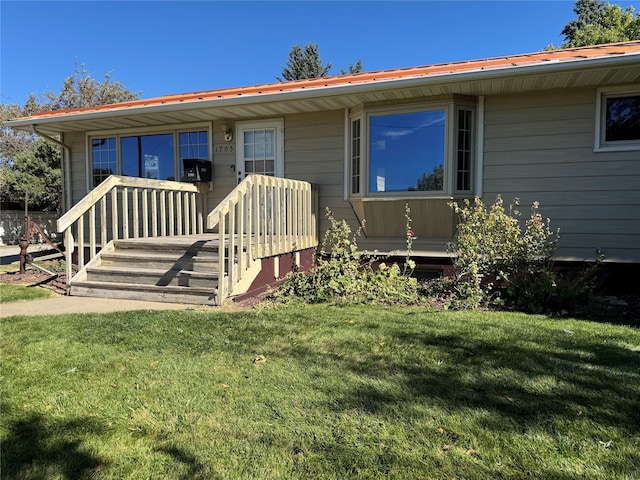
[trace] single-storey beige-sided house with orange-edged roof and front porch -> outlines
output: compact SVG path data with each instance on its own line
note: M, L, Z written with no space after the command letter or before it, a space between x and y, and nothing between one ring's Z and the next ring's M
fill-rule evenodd
M361 248L399 253L408 204L414 254L437 259L455 231L450 200L517 196L539 201L560 228L559 259L601 249L611 264L640 264L640 41L167 95L8 125L61 145L58 225L81 269L112 238L217 232L226 253L212 254L215 269L229 277L218 303L250 291L267 258L304 261L327 207L354 227L366 221ZM156 188L173 193L163 200L148 193ZM174 281L175 265L155 283ZM267 277L281 267L274 261Z

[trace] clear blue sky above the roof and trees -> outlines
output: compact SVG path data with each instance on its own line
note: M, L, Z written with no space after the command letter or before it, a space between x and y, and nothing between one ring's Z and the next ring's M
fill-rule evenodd
M612 1L622 7L638 2ZM0 101L59 92L84 64L149 98L270 83L292 45L318 44L332 74L534 52L575 18L556 1L0 0Z

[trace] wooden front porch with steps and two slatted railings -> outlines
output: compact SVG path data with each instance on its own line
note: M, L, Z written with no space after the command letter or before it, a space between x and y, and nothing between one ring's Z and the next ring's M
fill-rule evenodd
M58 220L67 293L221 305L318 244L310 183L249 175L211 212L203 195L189 183L107 178Z

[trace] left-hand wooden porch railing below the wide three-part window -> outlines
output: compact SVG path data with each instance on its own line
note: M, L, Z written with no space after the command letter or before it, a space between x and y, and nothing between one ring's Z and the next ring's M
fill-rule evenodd
M67 284L77 249L78 271L111 240L203 232L198 187L190 183L111 175L58 219ZM85 247L88 246L88 258Z

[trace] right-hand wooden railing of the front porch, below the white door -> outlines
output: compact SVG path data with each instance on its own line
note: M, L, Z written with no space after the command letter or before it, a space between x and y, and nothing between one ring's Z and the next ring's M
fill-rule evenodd
M207 216L207 228L217 227L221 245L219 301L233 292L255 261L317 246L316 215L310 183L264 175L248 175L240 182Z

